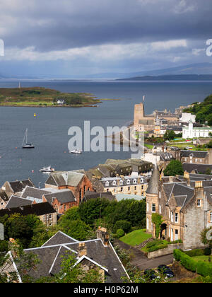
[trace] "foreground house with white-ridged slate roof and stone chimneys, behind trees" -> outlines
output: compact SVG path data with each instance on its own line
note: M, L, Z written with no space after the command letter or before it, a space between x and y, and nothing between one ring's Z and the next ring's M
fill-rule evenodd
M73 256L76 265L81 265L83 272L97 269L102 277L102 283L122 283L122 277L129 279L122 262L119 260L109 235L105 228L98 228L97 238L94 240L78 241L69 235L57 232L40 248L24 250L26 254L37 255L39 264L36 269L30 269L30 276L38 279L44 276L54 276L61 271L62 257ZM18 263L14 262L16 272ZM19 282L22 280L20 279Z

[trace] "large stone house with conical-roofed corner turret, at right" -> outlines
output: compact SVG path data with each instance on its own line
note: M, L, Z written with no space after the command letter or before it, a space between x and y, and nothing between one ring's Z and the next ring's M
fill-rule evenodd
M153 236L155 213L163 217L160 238L181 239L184 249L204 246L201 231L212 226L211 175L160 177L155 168L146 191L146 228Z

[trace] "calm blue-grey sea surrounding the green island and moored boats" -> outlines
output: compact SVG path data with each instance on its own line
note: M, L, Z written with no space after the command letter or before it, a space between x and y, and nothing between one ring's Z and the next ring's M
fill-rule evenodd
M146 113L175 110L180 105L202 101L212 93L211 82L141 82L141 81L21 81L21 86L43 86L59 91L93 93L97 98L120 98L104 101L98 108L0 107L0 186L6 180L30 177L43 187L47 175L39 169L52 165L56 170L92 168L107 158L130 158L130 152L68 153L69 127L119 126L133 120L134 105L146 95ZM0 88L17 88L18 81L0 80ZM34 114L37 117L34 117ZM35 149L21 148L25 129ZM92 139L92 137L91 137ZM34 173L32 172L34 170Z

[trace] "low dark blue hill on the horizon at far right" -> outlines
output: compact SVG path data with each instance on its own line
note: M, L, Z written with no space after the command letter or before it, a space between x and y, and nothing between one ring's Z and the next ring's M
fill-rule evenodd
M117 81L212 81L212 74L179 74L160 76L136 76L120 78Z

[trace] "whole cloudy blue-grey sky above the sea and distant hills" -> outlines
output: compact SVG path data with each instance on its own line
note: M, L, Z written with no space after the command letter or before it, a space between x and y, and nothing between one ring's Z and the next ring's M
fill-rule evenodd
M0 74L86 76L210 62L211 0L0 0Z

